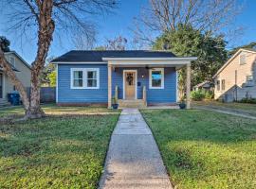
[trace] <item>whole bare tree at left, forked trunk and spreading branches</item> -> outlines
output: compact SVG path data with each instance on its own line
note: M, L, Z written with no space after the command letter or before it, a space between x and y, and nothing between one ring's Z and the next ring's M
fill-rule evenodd
M31 65L30 96L5 59L2 48L0 66L21 94L25 118L42 117L45 112L40 107L40 76L54 31L61 31L62 38L69 33L68 31L82 32L90 37L94 27L88 18L113 9L116 0L4 0L2 4L4 8L1 9L9 11L9 29L37 32L37 53Z

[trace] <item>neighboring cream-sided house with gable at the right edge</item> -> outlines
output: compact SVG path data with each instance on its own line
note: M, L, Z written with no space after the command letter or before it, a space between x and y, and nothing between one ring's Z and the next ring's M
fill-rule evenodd
M256 50L239 49L215 74L214 98L256 98Z

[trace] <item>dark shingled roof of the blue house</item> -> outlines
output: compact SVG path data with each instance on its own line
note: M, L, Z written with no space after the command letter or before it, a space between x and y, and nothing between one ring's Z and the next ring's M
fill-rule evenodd
M102 61L102 58L174 58L170 51L149 50L72 50L51 62Z

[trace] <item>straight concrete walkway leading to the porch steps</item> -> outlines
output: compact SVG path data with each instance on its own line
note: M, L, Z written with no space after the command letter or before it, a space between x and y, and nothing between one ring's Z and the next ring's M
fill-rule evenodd
M100 188L173 188L152 132L137 109L124 109L120 114Z

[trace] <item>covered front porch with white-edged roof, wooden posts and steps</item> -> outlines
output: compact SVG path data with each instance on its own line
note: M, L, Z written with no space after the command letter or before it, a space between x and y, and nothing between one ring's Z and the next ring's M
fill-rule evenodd
M114 96L120 107L176 105L179 101L177 70L184 66L187 68L187 108L191 108L191 60L195 58L104 60L108 61L108 108Z

